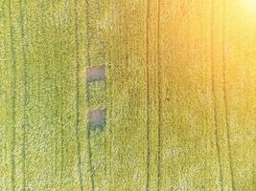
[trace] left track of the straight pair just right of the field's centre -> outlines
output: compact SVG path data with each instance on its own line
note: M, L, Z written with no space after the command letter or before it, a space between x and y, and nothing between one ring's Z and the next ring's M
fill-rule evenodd
M147 0L147 29L146 29L146 46L147 46L147 181L146 190L150 190L150 159L151 159L151 145L150 145L150 6L151 0Z

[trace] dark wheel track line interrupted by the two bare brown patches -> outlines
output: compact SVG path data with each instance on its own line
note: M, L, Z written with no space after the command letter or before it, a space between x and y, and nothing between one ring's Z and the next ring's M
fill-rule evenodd
M86 4L86 57L87 57L87 65L91 65L91 57L90 57L90 36L89 36L89 2L88 0L85 0ZM88 84L87 84L88 85ZM87 103L89 103L89 92L87 91ZM88 165L90 169L90 180L91 180L91 188L92 191L94 191L94 175L93 175L93 167L92 167L92 150L91 150L91 132L90 128L87 127L87 145L88 145Z

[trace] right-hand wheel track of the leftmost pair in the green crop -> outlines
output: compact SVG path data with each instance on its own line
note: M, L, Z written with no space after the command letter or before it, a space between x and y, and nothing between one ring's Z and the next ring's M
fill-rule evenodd
M24 6L26 8L26 1L24 1ZM29 104L29 97L28 97L28 57L27 57L27 48L26 48L26 40L25 40L25 22L24 22L24 10L22 8L22 1L19 1L19 15L20 15L20 33L21 33L21 43L22 43L22 56L23 56L23 74L24 74L24 111L23 111L23 143L22 143L22 171L23 171L23 190L26 190L26 131L29 127L29 118L28 118L28 104Z

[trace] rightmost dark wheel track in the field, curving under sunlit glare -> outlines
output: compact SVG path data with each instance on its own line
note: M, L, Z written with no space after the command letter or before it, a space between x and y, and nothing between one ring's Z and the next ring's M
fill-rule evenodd
M227 152L228 152L228 162L230 167L232 190L235 190L234 182L234 172L233 172L233 162L231 155L231 145L230 145L230 124L228 120L228 105L227 105L227 82L226 82L226 36L225 36L225 24L226 24L226 2L222 1L222 90L223 90L223 101L224 101L224 111L225 111L225 126L226 126L226 138L227 138Z

